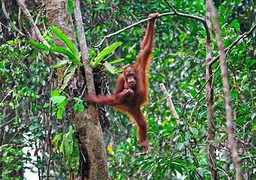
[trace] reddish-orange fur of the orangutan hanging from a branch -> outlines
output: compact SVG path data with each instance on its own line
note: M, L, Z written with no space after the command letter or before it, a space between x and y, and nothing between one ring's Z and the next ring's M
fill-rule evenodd
M123 74L120 74L120 76L117 78L117 86L114 92L114 97L87 96L87 102L105 104L110 107L114 107L123 113L127 112L129 116L136 121L136 124L138 125L139 145L140 147L144 147L142 154L147 154L148 151L148 144L146 142L148 140L148 124L142 113L141 107L148 101L147 72L151 64L155 28L154 24L158 17L158 13L152 13L149 15L149 17L151 17L151 20L148 21L147 32L141 43L142 51L137 56L137 62L135 65L129 65L126 67ZM126 82L126 74L129 74L126 72L127 68L129 68L129 73L132 72L133 74L136 74L134 76L136 86L134 87ZM128 95L127 92L133 92L133 94Z

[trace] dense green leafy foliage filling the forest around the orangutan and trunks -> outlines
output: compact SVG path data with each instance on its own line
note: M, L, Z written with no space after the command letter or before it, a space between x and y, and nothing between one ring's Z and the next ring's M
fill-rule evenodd
M239 35L248 32L254 25L252 3L239 0L215 1L225 47L230 46ZM205 2L201 0L173 1L172 6L178 12L198 17L206 16ZM145 19L149 13L172 11L165 1L84 1L82 10L82 14L87 14L84 21L86 37L90 35L93 44L99 43L106 34ZM123 66L136 60L145 26L146 23L108 38L108 44L111 45L102 48L103 50L89 49L93 67L100 66L110 72L110 86L113 90L115 74L120 72ZM47 65L42 54L27 46L24 40L14 39L0 46L0 128L1 134L12 135L5 136L5 142L2 143L6 146L1 147L0 178L14 179L11 172L17 174L21 166L30 169L26 162L37 167L41 178L45 178L48 153L43 147L47 146L44 139L47 139L47 117L50 113L53 115L54 151L65 152L65 161L59 153L53 155L56 164L53 166L51 162L51 167L56 176L52 178L66 177L68 171L60 164L64 163L67 168L77 169L79 154L75 129L70 125L65 110L67 102L75 99L74 109L82 112L85 108L82 104L84 97L70 98L63 89L81 62L72 42L58 29L53 27L52 30L69 49L54 46L52 37L47 33L44 37L51 44L50 47L30 41L37 49L64 53L69 58L62 59L51 67ZM108 116L112 121L111 129L105 132L105 143L108 149L109 172L113 179L211 179L204 98L205 36L206 31L202 23L196 20L177 16L161 17L157 20L148 83L149 103L142 108L148 120L150 154L145 157L137 154L140 149L136 140L136 126L126 115L109 108ZM254 39L255 31L239 40L236 46L227 52L234 130L245 179L254 179L256 172L256 161L253 158L256 130ZM214 34L212 43L213 56L216 57L218 49ZM67 68L62 76L63 84L58 91L51 92L48 81L50 68L64 66ZM227 179L227 176L233 178L236 175L236 169L230 162L227 145L223 86L218 62L213 65L213 73L218 173L221 179ZM163 93L160 92L160 83L164 83L169 92L173 92L172 101L181 118L179 126L166 105ZM52 112L49 112L50 101L53 103ZM69 133L67 129L62 128L60 119L68 124ZM62 142L58 143L61 138ZM15 177L17 178L19 177Z

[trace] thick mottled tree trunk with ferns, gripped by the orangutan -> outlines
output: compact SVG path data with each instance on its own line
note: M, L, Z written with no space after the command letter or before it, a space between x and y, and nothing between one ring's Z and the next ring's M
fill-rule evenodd
M47 5L47 20L49 26L56 26L59 28L67 37L69 37L76 46L76 38L74 33L74 26L72 23L72 17L69 14L69 9L66 7L69 5L69 1L65 0L49 0L46 3ZM74 1L74 11L75 13L80 12L80 6L76 5ZM81 12L80 12L81 13ZM76 20L77 22L77 20ZM77 22L78 26L78 22ZM80 32L78 27L78 35L84 34ZM54 42L56 46L62 46L67 48L62 40L59 37L54 35ZM85 43L84 43L85 42ZM83 46L80 48L81 51L85 49L87 55L83 56L83 65L84 71L82 68L77 68L75 75L70 80L69 86L66 87L65 92L68 95L73 97L79 97L82 95L82 92L87 86L88 92L94 91L93 78L88 80L89 76L93 77L92 70L90 68L90 61L84 61L84 57L89 58L86 41L81 42L79 38L79 43ZM89 65L87 65L89 63ZM89 68L88 68L89 67ZM58 71L59 74L64 74L65 67ZM84 74L86 75L84 77ZM86 80L86 82L85 82ZM58 78L60 82L61 79ZM87 83L87 85L86 85ZM93 88L93 90L92 90ZM80 160L79 160L79 179L108 179L108 164L105 151L105 141L102 134L102 127L99 124L98 110L96 106L90 105L87 110L84 110L83 113L80 111L74 111L75 101L69 101L69 104L66 106L66 114L69 115L69 119L72 121L72 124L75 124L75 128L78 134L78 143L80 151ZM84 104L86 107L86 104Z

